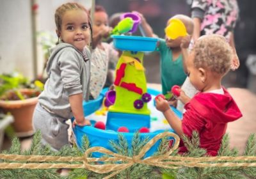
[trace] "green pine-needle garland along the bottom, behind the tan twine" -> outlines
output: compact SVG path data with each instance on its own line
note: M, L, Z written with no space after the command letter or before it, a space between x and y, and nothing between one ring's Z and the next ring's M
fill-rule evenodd
M188 148L188 153L186 156L188 157L202 157L205 156L206 150L201 149L199 146L199 136L198 133L193 132L191 139L189 137L184 136L183 141L185 146ZM40 133L36 133L31 148L24 152L20 150L19 139L15 137L12 140L12 146L9 151L3 151L3 154L16 154L16 155L55 155L55 156L82 156L84 152L90 148L90 142L88 137L84 136L82 139L81 150L79 148L70 148L69 146L65 146L61 148L60 151L54 152L51 150L49 145L42 146L41 144L41 135ZM122 134L118 134L118 141L111 141L111 147L116 150L116 153L120 153L122 155L127 155L132 157L132 155L138 155L143 146L148 143L148 137L140 137L140 134L134 133L134 137L132 139L132 147L128 147L127 140ZM163 153L166 151L166 146L168 146L168 139L163 138L160 146L156 153ZM156 155L154 153L154 155ZM177 153L172 155L177 155ZM227 155L227 156L237 156L237 150L230 150L229 137L228 135L223 136L221 141L221 147L218 151L219 156ZM246 144L246 150L244 155L255 156L256 155L256 139L255 134L250 135ZM1 162L6 162L1 160ZM7 161L10 162L10 161ZM11 161L12 162L12 161ZM29 162L29 161L28 161ZM239 161L237 161L239 162ZM108 163L108 162L106 162ZM115 162L109 162L115 163ZM213 162L214 163L214 162ZM91 164L97 164L95 162L91 162ZM159 175L157 171L157 167L147 166L144 164L134 164L131 167L121 171L118 175L113 178L161 178L162 175ZM163 177L167 178L256 178L256 167L182 167L180 169L159 169L161 173L163 173ZM68 176L62 177L58 173L56 173L56 169L1 169L0 170L0 178L103 178L107 174L98 174L93 171L89 171L88 169L72 169L72 171L68 174ZM165 179L165 178L164 178Z

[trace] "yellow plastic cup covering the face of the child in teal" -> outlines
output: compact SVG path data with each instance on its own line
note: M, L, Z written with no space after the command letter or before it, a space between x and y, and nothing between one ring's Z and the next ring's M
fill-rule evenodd
M179 19L171 19L168 26L164 29L168 38L175 40L179 36L186 36L187 31L183 22Z

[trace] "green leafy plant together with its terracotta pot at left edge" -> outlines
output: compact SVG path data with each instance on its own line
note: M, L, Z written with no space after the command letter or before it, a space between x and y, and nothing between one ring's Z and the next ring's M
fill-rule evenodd
M31 83L19 73L0 75L0 108L14 118L12 126L19 137L34 134L32 116L38 95L44 88L39 81Z

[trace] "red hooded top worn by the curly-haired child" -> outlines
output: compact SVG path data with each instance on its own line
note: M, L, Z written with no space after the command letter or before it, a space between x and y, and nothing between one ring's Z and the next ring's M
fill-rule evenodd
M193 130L200 135L200 148L205 148L211 156L216 156L221 139L226 132L227 123L241 118L236 102L223 88L224 95L216 93L197 93L185 105L186 113L182 119L182 131L191 137ZM187 152L180 142L180 153Z

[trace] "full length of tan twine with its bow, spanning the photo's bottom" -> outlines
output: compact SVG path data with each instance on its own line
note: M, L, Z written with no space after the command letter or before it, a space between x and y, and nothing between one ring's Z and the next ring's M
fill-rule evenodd
M162 137L174 137L175 143L173 148L163 155L156 155L143 159L145 153ZM179 167L256 167L256 156L239 156L239 157L181 157L170 156L179 146L180 139L172 132L163 132L153 137L141 152L133 157L120 155L106 148L92 147L86 150L83 157L60 157L45 155L6 155L0 154L0 159L12 161L33 161L33 163L20 162L0 162L0 169L49 169L49 168L86 168L96 173L113 172L105 178L111 178L120 171L127 169L133 164L147 164L150 166L177 169ZM100 152L113 157L87 158L92 152ZM95 164L95 162L114 161L116 164ZM229 161L229 162L227 162ZM38 162L38 163L35 163ZM43 162L58 162L56 164ZM68 164L60 162L83 162L82 164Z

